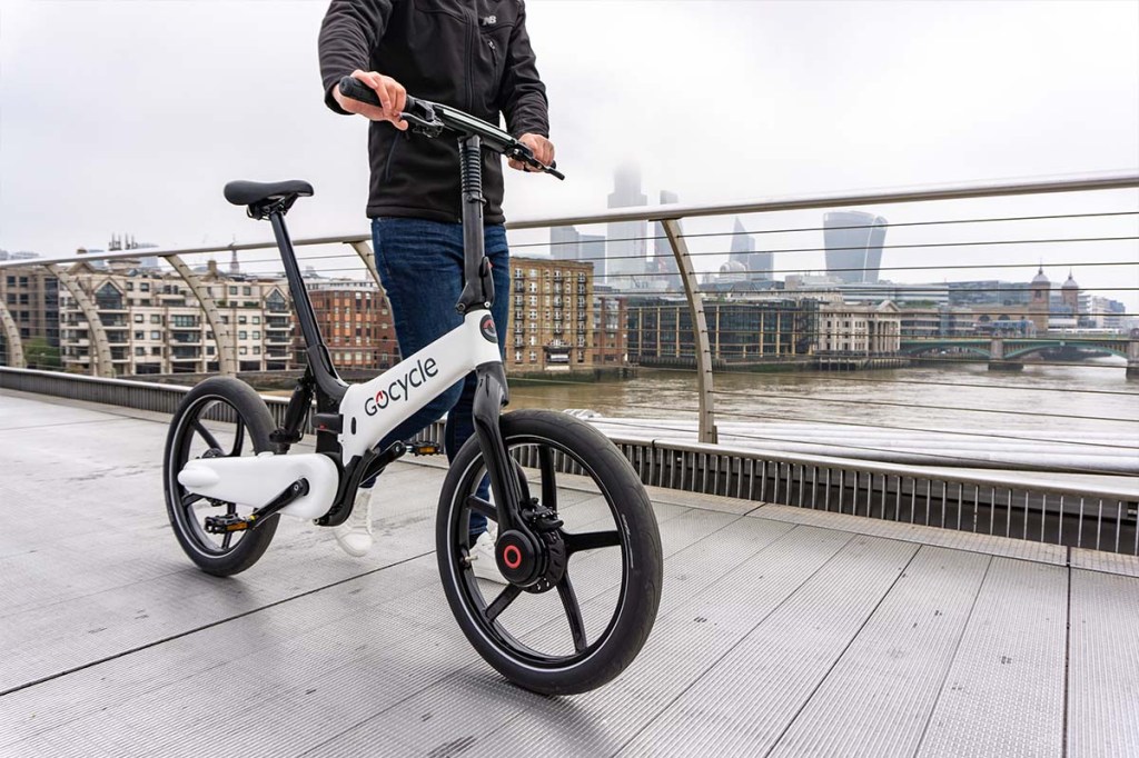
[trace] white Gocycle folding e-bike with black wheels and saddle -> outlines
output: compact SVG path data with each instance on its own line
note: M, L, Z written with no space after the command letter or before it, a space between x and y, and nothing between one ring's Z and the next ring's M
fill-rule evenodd
M341 89L377 104L357 80L346 79ZM446 131L459 139L465 263L456 307L462 323L371 381L346 385L321 339L285 228L286 212L297 197L312 195L312 187L227 184L230 203L272 224L308 365L279 428L264 401L238 379L211 378L187 394L166 439L170 522L190 559L218 576L253 566L282 513L341 525L361 481L408 450L432 446L412 442L379 450L380 440L473 371L475 435L451 462L435 527L448 603L474 648L508 679L549 694L584 692L620 674L644 645L659 604L662 554L645 489L608 438L564 413L500 414L507 382L490 311L494 287L483 247L482 151L560 174L507 132L448 106L409 98L403 118L420 135ZM306 421L316 430L316 452L286 455ZM492 499L478 495L484 477ZM491 588L474 575L474 513L497 525L494 557L509 580L506 588ZM571 569L588 579L588 595L579 599ZM555 596L552 605L541 605Z

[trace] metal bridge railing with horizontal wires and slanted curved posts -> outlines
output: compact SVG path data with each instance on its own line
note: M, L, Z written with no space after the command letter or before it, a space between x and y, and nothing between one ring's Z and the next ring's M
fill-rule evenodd
M874 465L951 469L960 483L978 470L1134 476L1139 395L1123 379L1139 373L1137 187L1134 173L1100 174L514 221L513 405L589 410L649 451L751 451L769 464L757 492L779 502L795 491L773 486L779 467L811 458L855 478ZM398 361L369 236L294 244L345 376ZM271 241L0 262L0 357L287 389L303 355L279 270ZM689 453L675 480L728 476ZM740 465L721 491L739 489ZM867 502L913 496L883 476ZM790 500L826 503L842 487L804 484ZM1115 502L1125 526L1130 501Z

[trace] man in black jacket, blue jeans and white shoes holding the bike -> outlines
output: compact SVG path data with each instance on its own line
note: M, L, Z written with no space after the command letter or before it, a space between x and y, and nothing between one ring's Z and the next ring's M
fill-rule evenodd
M408 92L499 123L544 164L554 160L546 86L526 33L523 0L333 0L320 28L325 102L371 121L368 157L376 267L392 304L400 351L407 356L461 321L454 311L462 281L459 148L428 139L400 120ZM337 83L352 75L376 91L382 107L345 98ZM513 168L525 166L511 160ZM483 154L486 255L494 279L492 314L503 348L509 314L509 250L502 216L502 166ZM475 377L458 382L400 425L380 446L418 434L448 413L444 448L453 459L474 432ZM371 484L357 494L352 516L335 530L339 545L361 557L372 544ZM483 483L485 489L486 484ZM485 495L485 493L484 493ZM493 534L472 516L475 574L501 582Z

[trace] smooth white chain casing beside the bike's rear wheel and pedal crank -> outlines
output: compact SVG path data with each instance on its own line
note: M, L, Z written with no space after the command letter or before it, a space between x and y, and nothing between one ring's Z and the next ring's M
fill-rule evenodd
M309 480L309 494L280 510L302 519L320 518L333 506L339 472L327 455L301 453L254 458L196 459L178 472L178 481L188 491L249 508L262 508L297 479Z

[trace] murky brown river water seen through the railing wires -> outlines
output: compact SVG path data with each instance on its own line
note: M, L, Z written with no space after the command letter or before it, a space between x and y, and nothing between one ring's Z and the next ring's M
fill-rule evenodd
M728 432L734 444L792 450L782 443L811 442L818 446L795 450L838 454L845 447L867 458L906 448L961 464L1050 456L1046 468L1089 471L1101 468L1092 459L1111 456L1116 472L1139 470L1139 382L1124 378L1118 359L1030 363L1016 373L991 372L983 363L716 373L714 385L720 442ZM605 417L609 431L652 420L673 437L694 438L696 378L693 371L645 369L632 379L595 384L555 376L513 386L510 407L585 409Z

